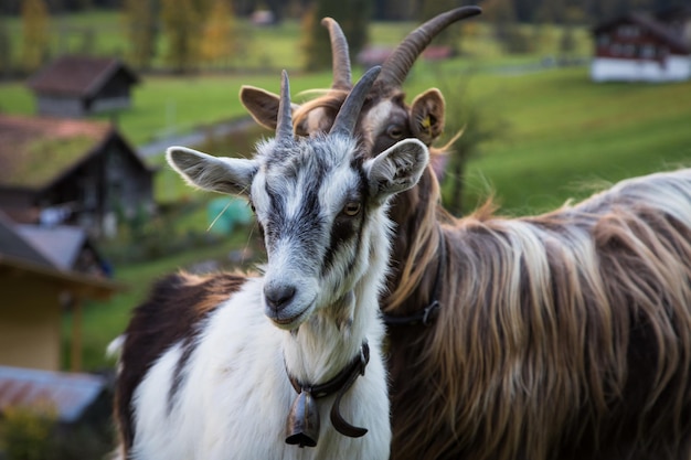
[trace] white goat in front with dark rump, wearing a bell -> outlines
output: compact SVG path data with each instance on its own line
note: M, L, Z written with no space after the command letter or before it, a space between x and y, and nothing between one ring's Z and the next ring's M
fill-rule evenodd
M378 73L328 135L294 138L284 73L276 137L254 159L168 150L188 183L249 199L267 265L262 277L171 276L134 311L116 384L121 458L389 458L386 206L428 151L408 139L362 154L353 129Z

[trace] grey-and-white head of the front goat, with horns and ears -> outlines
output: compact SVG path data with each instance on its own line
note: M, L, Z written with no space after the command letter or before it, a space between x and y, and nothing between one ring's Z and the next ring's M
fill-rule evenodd
M373 235L389 231L380 211L427 164L427 148L414 139L364 158L352 132L378 74L355 85L328 135L294 138L284 75L276 138L261 142L254 159L168 150L169 163L192 185L251 201L268 258L264 309L279 328L294 330L329 306L352 309L370 253L381 250Z

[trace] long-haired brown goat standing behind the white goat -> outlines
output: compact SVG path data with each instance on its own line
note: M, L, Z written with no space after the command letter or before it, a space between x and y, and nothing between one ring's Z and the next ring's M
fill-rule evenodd
M372 158L397 114L425 143L436 132L418 136L426 122L382 95L398 94L439 18L383 65L401 72L361 115ZM337 110L342 93L296 114ZM691 170L543 215L502 218L487 204L455 218L428 168L390 216L392 459L691 458Z

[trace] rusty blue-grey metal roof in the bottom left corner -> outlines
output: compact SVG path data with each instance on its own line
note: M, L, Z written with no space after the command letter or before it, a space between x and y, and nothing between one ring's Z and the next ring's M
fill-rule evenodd
M106 379L96 375L0 366L0 413L47 404L60 421L70 424L105 389Z

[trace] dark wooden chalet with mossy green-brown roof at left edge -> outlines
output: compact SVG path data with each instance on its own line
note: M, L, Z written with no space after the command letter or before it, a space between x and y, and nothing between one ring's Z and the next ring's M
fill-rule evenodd
M99 237L153 210L153 170L107 122L0 115L0 210L17 222Z

